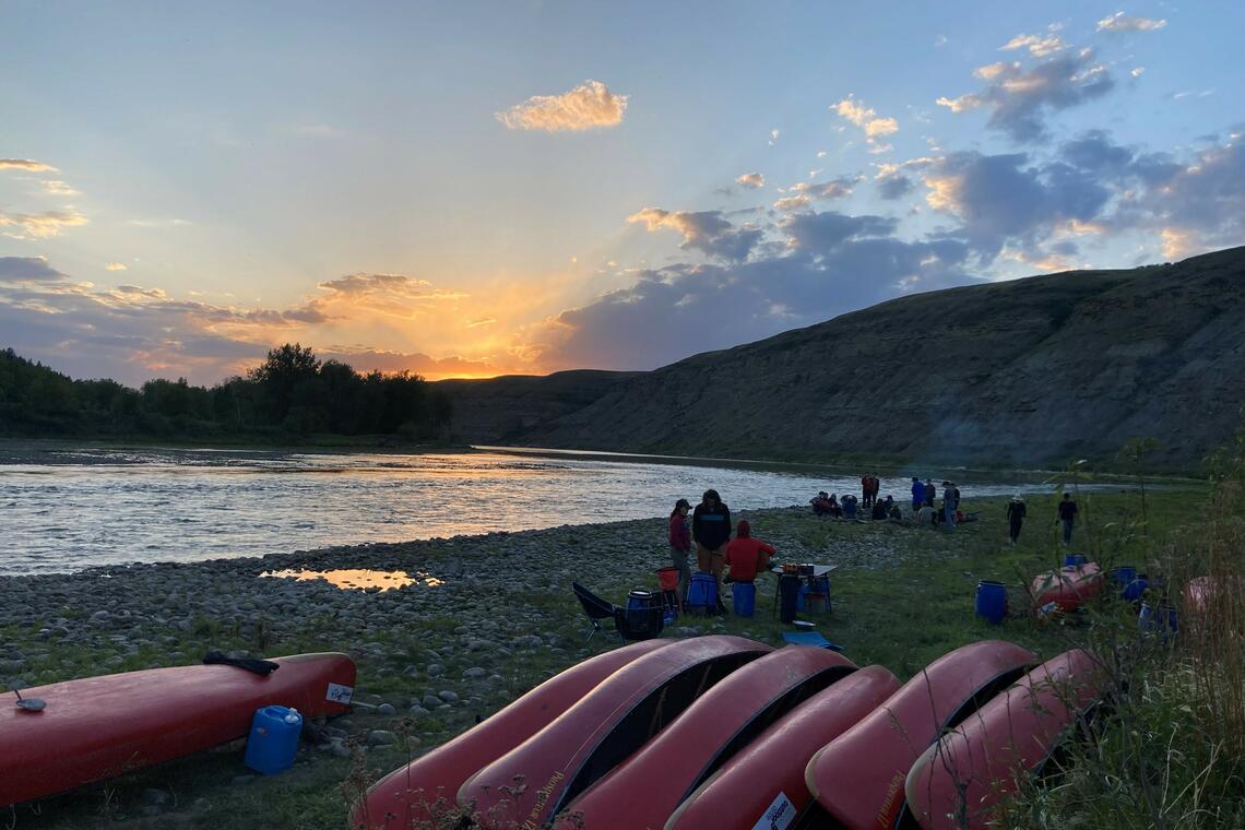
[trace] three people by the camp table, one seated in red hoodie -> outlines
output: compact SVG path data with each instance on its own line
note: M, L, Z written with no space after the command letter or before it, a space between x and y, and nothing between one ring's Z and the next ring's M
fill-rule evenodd
M691 521L687 518L688 513ZM732 530L735 539L731 539ZM679 570L680 602L687 596L687 586L691 582L688 557L693 546L696 569L712 574L720 584L722 571L727 567L730 567L726 575L728 582L756 581L757 574L769 569L769 557L774 555L772 545L752 536L752 528L746 519L741 519L732 529L731 508L726 506L722 497L713 489L705 490L701 503L695 509L687 499L679 499L670 513L670 559ZM717 610L725 612L721 590L717 596Z

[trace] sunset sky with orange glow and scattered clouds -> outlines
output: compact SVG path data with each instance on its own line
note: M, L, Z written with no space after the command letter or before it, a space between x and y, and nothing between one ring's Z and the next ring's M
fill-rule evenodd
M0 347L650 370L1245 244L1245 4L0 0Z

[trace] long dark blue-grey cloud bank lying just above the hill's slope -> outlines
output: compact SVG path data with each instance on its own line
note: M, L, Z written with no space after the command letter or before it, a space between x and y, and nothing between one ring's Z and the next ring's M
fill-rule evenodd
M675 265L559 315L543 332L557 367L652 368L681 356L820 322L905 291L970 281L957 240L908 243L895 220L796 214L782 254L735 265ZM776 249L777 250L777 249ZM642 332L642 336L640 335Z

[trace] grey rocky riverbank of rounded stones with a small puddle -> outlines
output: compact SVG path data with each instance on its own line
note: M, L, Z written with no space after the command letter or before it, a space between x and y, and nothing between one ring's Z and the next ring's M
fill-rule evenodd
M738 518L749 519L753 533L773 543L783 560L837 564L837 585L849 586L849 597L853 584L879 596L914 585L930 601L923 574L956 557L964 561L966 551L994 550L1002 540L1001 524L990 521L965 525L952 535L886 521L820 520L808 508L746 511ZM29 814L19 826L110 826L82 824L83 815L98 816L101 810L108 821L148 826L143 816L168 819L174 804L199 821L220 810L233 815L238 804L248 803L259 813L270 804L286 804L300 816L255 826L340 826L349 800L349 794L339 794L342 781L366 781L488 717L545 677L613 647L616 638L609 635L585 643L588 625L570 581L615 602L629 589L656 587L652 571L669 562L665 538L666 520L654 518L260 559L0 577L0 684L10 687L197 663L210 648L249 656L344 651L359 664L359 706L349 717L317 724L288 774L255 779L242 767L240 753L217 753L86 788L45 805L40 816L21 808ZM1002 561L991 566L1010 567ZM381 591L341 589L324 579L264 576L347 569L402 571L413 581ZM911 576L893 576L896 572ZM879 577L891 584L879 586ZM976 576L955 571L947 579L949 596L970 596ZM839 591L837 601L844 596ZM762 597L763 609L754 618L685 618L671 633L730 631L779 642L768 601ZM857 604L847 616L835 612L835 631L854 638L857 655L869 657L873 646L867 643L875 642L888 658L884 650L894 637L878 628L872 601L862 596ZM890 616L908 613L908 606L900 601ZM971 622L971 612L964 618ZM895 625L908 623L896 618ZM971 630L956 630L949 640L974 636ZM906 671L901 661L908 660L893 660L891 668ZM910 668L924 660L924 652L914 655ZM136 702L149 704L158 704L158 691L151 701Z

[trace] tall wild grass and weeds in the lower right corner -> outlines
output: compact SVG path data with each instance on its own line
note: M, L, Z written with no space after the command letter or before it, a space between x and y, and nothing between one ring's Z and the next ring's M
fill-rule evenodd
M1109 703L997 826L1245 828L1245 452L1220 454L1213 480L1198 520L1163 548L1145 516L1098 529L1096 553L1144 561L1144 601L1175 610L1179 632L1140 628L1119 600L1094 611L1088 645L1109 669Z

